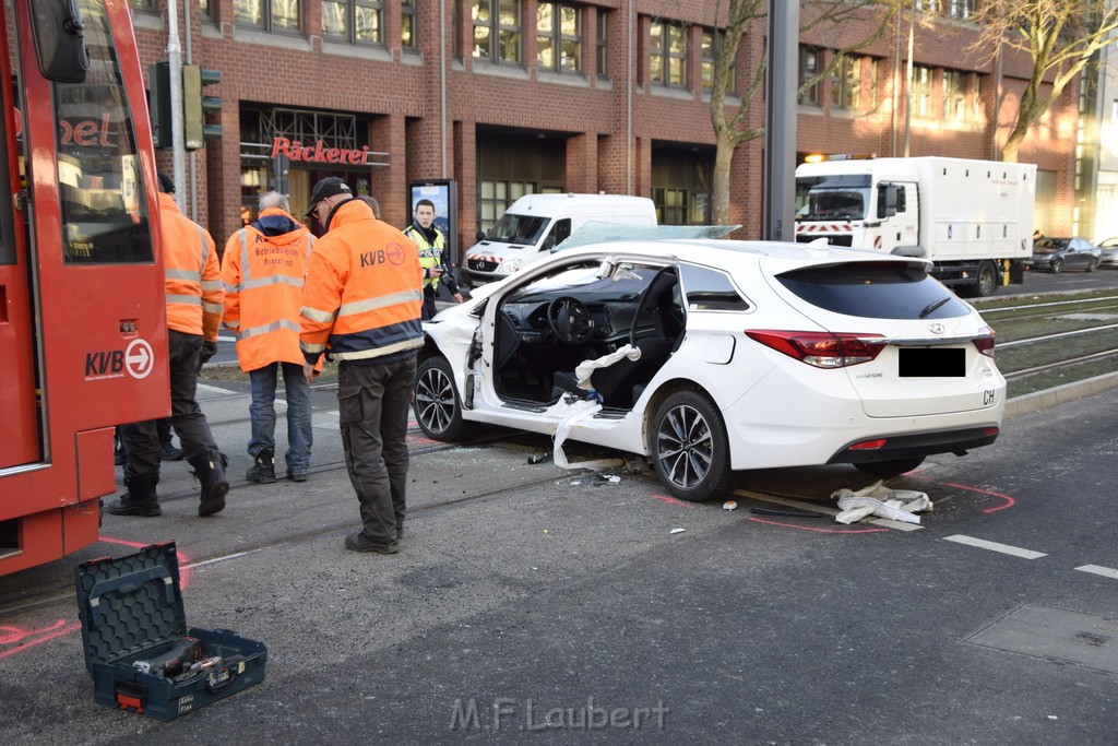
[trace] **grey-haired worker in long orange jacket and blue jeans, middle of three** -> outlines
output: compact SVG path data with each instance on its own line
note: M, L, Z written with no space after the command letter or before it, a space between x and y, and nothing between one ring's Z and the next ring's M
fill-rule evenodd
M252 384L249 482L276 481L276 380L283 372L287 399L287 479L305 482L311 465L311 387L299 349L303 277L314 236L287 211L277 191L260 195L259 215L225 245L222 323L237 333L237 360Z

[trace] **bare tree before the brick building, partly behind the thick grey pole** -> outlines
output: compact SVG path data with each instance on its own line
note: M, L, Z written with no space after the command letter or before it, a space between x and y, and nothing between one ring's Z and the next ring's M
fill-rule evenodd
M779 0L784 1L784 0ZM827 65L815 76L805 79L800 89L815 85L835 73L843 58L877 39L890 28L890 22L901 8L909 7L911 0L805 0L800 3L800 32L809 32L824 26L836 31L847 28L852 21L861 21L847 44L837 47L830 56ZM714 69L710 93L710 119L714 126L714 174L713 207L714 223L724 225L730 220L730 163L738 145L756 140L765 134L764 126L749 126L750 106L759 101L757 93L765 82L765 56L749 72L748 85L740 92L740 105L736 111L727 111L727 87L733 63L747 31L764 35L762 20L768 15L769 0L727 0L724 15L721 2L716 7L714 17ZM864 21L870 21L865 23ZM844 38L841 32L835 38Z

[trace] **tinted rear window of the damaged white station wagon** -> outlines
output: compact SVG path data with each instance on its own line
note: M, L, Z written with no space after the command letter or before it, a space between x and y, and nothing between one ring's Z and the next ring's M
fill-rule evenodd
M777 280L812 305L851 317L950 319L970 312L922 264L856 262L795 270Z

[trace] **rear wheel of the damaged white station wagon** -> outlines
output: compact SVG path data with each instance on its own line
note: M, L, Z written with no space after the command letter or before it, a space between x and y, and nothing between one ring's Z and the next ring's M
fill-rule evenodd
M653 417L651 445L656 475L681 500L710 500L733 479L726 425L698 391L676 391L664 399Z

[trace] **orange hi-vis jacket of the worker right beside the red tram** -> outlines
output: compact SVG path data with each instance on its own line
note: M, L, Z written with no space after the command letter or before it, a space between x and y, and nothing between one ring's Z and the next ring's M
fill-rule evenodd
M217 341L221 325L221 270L209 232L182 213L171 195L159 196L167 278L167 325Z

